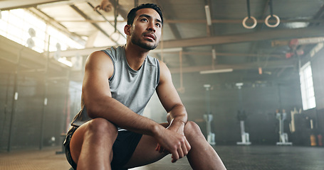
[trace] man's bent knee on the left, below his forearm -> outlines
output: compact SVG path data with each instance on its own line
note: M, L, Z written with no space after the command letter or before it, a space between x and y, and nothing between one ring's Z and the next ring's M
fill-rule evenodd
M95 118L90 120L87 125L87 131L93 135L104 136L111 135L111 137L117 137L116 126L104 118Z

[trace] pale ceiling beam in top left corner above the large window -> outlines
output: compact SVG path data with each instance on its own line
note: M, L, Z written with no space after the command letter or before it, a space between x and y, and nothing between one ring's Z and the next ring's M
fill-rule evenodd
M16 8L29 8L29 7L36 7L40 4L47 4L52 2L58 2L58 1L67 1L67 0L6 0L6 1L0 1L0 10L6 11Z

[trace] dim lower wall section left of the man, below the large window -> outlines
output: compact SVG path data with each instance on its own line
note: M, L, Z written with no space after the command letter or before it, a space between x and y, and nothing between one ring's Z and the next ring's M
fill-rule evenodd
M48 81L48 102L44 107L42 75L20 76L17 81L19 98L14 101L14 74L0 74L1 150L9 149L11 127L11 149L41 147L42 124L42 147L61 145L61 133L66 132L68 81ZM70 110L73 107L73 102L70 102ZM50 141L51 137L56 138L55 142Z

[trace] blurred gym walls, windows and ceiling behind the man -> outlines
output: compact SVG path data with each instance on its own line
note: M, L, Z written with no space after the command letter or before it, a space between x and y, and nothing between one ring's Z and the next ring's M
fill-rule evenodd
M127 13L143 3L164 13L150 55L209 142L236 145L243 120L252 145L276 145L282 130L322 147L323 0L11 0L0 1L1 151L61 146L86 58L125 45ZM145 116L166 121L156 94Z

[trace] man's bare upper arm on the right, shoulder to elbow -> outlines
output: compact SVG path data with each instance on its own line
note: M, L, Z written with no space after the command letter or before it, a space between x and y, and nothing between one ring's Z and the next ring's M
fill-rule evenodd
M160 67L160 83L157 86L157 96L159 96L162 106L169 112L174 106L182 105L182 101L174 88L169 69L164 63L161 63Z

